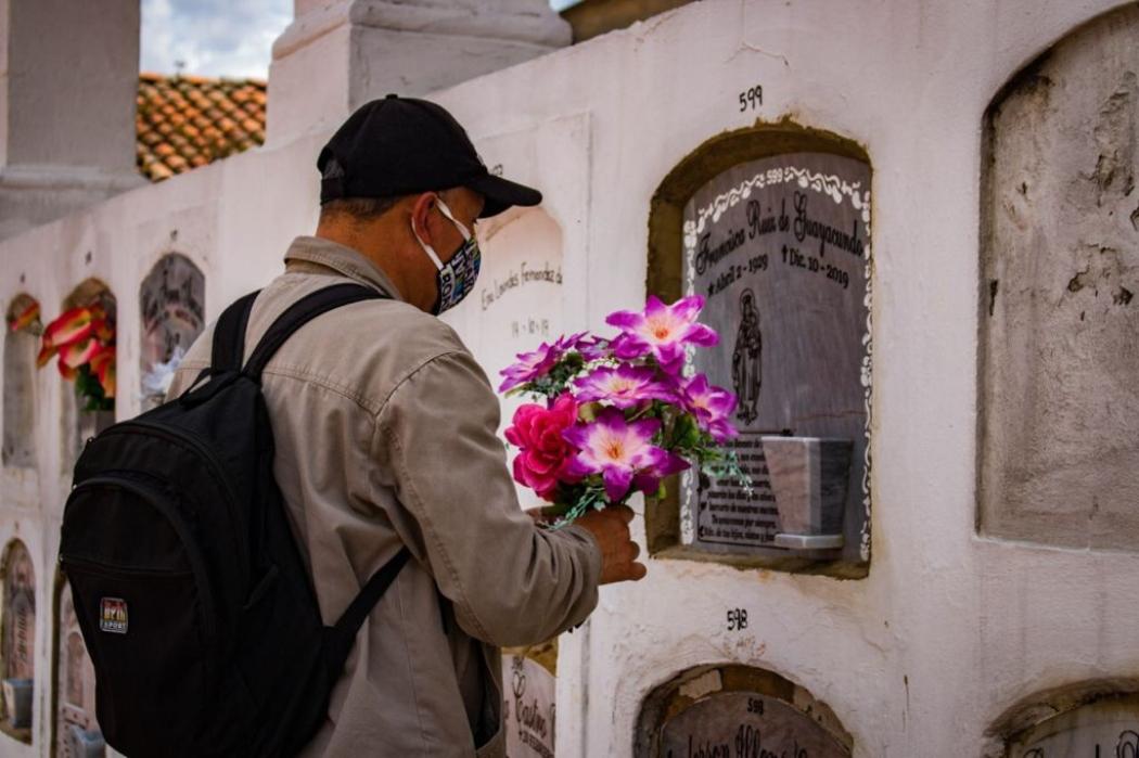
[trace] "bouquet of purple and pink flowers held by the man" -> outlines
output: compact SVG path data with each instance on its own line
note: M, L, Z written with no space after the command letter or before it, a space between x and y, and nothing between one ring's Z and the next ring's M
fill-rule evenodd
M519 406L506 438L518 448L515 480L554 504L555 528L637 492L661 497L663 478L693 465L747 486L721 447L738 434L736 396L685 372L686 349L719 340L696 321L703 307L699 296L650 296L644 311L606 318L615 337L563 336L501 371L500 392L544 401Z

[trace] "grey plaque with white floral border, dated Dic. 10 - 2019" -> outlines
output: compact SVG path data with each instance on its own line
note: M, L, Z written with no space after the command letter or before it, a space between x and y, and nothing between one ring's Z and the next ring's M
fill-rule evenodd
M726 171L685 207L685 289L720 335L689 364L739 397L732 446L754 486L687 475L682 543L786 554L762 438L793 435L850 440L843 557L867 559L869 183L860 160L788 154Z

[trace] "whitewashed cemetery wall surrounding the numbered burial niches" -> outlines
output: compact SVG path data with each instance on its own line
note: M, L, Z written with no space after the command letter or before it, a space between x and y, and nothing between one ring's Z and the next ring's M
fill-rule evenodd
M644 299L649 200L710 137L789 117L862 145L874 167L869 576L650 561L645 582L604 590L590 623L562 638L558 755L631 755L646 694L704 664L753 665L804 687L862 757L998 755L986 730L1033 692L1139 668L1133 552L976 530L985 110L1022 66L1118 5L705 0L437 93L489 165L547 191L565 330L604 330L607 313ZM762 107L740 112L738 94L755 84ZM0 242L0 298L27 291L50 318L81 280L106 281L120 303L118 414L133 414L142 278L166 252L188 256L206 275L208 319L264 283L288 240L313 228L327 133ZM544 221L532 230L511 245L557 238ZM454 314L464 330L480 318ZM46 609L67 480L60 380L44 370L36 381L41 465L5 472L0 541L25 539ZM633 528L644 536L641 518ZM728 632L736 608L749 624ZM38 625L34 744L3 742L6 756L47 755L51 615Z

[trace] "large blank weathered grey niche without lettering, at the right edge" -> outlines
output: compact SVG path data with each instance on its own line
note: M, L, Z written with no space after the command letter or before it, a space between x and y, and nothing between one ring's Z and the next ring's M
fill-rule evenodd
M978 526L1139 541L1139 6L1080 26L984 115Z

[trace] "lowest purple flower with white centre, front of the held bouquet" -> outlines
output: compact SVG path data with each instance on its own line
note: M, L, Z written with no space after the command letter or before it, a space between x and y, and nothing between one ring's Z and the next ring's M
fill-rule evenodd
M567 472L580 477L600 473L611 503L621 502L634 477L638 489L655 492L661 477L688 468L680 456L652 444L659 428L657 419L626 422L621 411L605 409L592 423L579 423L562 432L581 451Z

